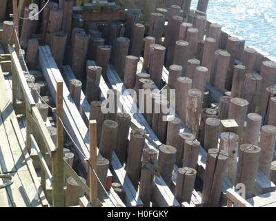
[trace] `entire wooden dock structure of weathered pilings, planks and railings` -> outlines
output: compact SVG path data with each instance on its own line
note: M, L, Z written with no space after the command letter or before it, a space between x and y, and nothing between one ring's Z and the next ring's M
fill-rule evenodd
M276 62L207 0L3 2L0 207L276 206Z

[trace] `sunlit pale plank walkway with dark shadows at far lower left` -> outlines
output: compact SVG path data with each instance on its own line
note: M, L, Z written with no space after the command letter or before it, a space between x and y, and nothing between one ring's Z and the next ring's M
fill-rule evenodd
M10 186L0 189L0 207L48 206L28 155L1 67L0 95L0 173L12 176L13 180ZM0 185L8 181L8 178L0 178Z

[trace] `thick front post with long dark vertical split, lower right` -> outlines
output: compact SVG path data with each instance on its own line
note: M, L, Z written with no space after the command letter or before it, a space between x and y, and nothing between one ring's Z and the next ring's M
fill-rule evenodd
M226 176L228 154L216 148L208 150L202 198L205 206L219 206L222 184Z

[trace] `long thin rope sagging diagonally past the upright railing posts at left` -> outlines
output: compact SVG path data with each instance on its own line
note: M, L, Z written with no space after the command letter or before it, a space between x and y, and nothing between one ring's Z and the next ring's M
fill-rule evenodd
M15 32L15 35L16 35L16 38L17 38L17 42L18 42L18 45L19 45L19 51L21 50L21 46L20 46L20 43L19 43L19 37L18 37L18 34L17 34L17 30L16 28L14 28L14 32ZM28 67L27 67L27 64L26 64L26 61L24 59L24 57L22 56L23 58L23 64L24 66L26 67L26 70L27 70L27 73L28 73L28 76L30 77L30 72L28 70ZM39 91L37 90L37 88L35 87L34 85L34 82L32 81L32 78L30 77L31 79L31 82L32 82L32 85L34 86L34 89L37 93L37 95L39 95ZM41 101L46 104L48 106L48 108L50 108L52 110L52 112L56 112L56 108L53 108L52 106L48 105L44 100L43 98L41 97L41 95L39 95L39 98L41 99ZM63 121L61 120L61 117L59 117L59 115L57 114L57 117L59 118L59 121L61 122L64 130L66 131L66 133L68 134L68 136L70 137L70 139L72 140L73 144L75 145L75 148L77 148L79 150L79 153L81 153L81 155L86 159L86 162L88 162L88 165L90 166L90 168L92 169L92 172L94 173L95 177L97 177L97 180L99 182L99 184L101 184L101 188L103 189L103 191L106 193L106 195L108 195L108 192L106 191L106 188L103 186L103 184L101 183L101 180L99 180L99 177L97 176L97 173L95 172L95 169L93 169L92 165L90 164L90 160L88 157L86 157L86 155L84 155L82 152L81 152L81 148L79 148L79 146L76 144L76 142L72 139L70 133L68 132L68 130L66 129L66 126L63 124ZM112 195L112 193L110 192L110 194ZM112 195L113 198L114 195ZM115 203L111 200L110 196L108 195L108 198L110 199L110 201L112 202L112 204L116 207ZM115 198L116 200L116 198ZM116 200L117 202L117 200ZM117 205L120 205L118 202L117 202Z

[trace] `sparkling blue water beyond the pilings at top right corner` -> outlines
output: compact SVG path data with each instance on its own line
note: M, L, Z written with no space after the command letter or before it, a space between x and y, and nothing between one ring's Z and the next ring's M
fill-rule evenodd
M276 0L209 0L207 17L276 61Z

